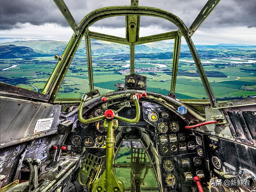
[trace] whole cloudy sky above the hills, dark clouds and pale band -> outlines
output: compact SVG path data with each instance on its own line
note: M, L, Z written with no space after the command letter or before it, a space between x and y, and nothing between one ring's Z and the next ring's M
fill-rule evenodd
M189 27L206 0L140 0L181 18ZM108 6L130 5L130 0L65 0L77 24L89 12ZM73 30L53 0L0 0L0 43L15 40L69 40ZM193 35L194 44L235 43L256 45L256 0L221 0ZM96 22L91 31L125 37L125 17ZM177 30L174 24L141 16L140 37ZM185 43L183 39L182 43Z

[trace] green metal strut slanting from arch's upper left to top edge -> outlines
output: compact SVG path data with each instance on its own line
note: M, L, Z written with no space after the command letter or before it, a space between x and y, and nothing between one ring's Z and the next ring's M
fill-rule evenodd
M71 26L74 33L78 36L80 33L80 29L77 26L76 21L74 20L72 14L69 12L67 5L64 3L63 0L54 0L54 3L60 9L60 12L63 14L65 19L67 20L69 26Z

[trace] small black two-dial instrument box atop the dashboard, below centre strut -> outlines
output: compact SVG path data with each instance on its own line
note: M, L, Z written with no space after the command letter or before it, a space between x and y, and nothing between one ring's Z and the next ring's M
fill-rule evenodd
M136 89L136 90L146 90L147 77L139 74L129 74L125 76L125 89Z

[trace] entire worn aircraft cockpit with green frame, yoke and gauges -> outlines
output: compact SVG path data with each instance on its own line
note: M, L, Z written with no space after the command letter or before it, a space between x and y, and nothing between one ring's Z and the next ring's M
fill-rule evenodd
M41 93L1 82L0 190L256 191L255 98L216 101L192 41L219 1L208 0L187 27L174 14L134 0L94 10L77 25L64 1L54 0L74 33L63 54L55 55L57 64ZM89 30L114 16L125 18L126 38ZM141 16L163 18L178 29L140 37ZM175 94L182 37L207 99ZM89 90L80 98L57 98L83 38ZM94 84L101 77L93 70L91 39L129 47L129 69L122 81L112 82L115 91L100 93ZM174 47L170 88L162 94L149 89L154 74L136 72L135 45L166 39L174 40Z

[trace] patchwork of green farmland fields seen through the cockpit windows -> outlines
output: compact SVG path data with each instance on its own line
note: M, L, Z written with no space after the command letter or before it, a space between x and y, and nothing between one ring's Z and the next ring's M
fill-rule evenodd
M129 73L122 72L127 68L121 66L128 63L125 63L125 60L122 58L110 61L104 59L96 60L95 58L101 57L97 55L93 60L94 89L98 89L101 94L117 90L114 85L118 82L124 83L125 75ZM105 58L108 57L105 55ZM178 99L207 98L200 77L189 76L190 73L198 73L195 64L190 62L191 60L192 58L180 58L178 72L181 70L181 72L185 73L177 76L175 94L178 95ZM255 58L247 60L252 61ZM140 62L135 64L135 68L138 70L137 73L147 77L147 90L167 95L171 87L172 59L146 60L138 58L137 61ZM246 64L227 64L227 62L238 62L239 59L236 58L221 60L202 59L202 61L212 63L203 64L205 71L216 71L226 75L226 77L208 77L215 97L232 98L242 96L246 98L248 95L256 95L256 73L253 71L256 69L256 61L255 63ZM0 70L12 65L17 66L0 71L0 81L40 92L50 77L56 63L52 57L4 59L1 60ZM76 55L60 87L57 98L79 98L82 94L89 92L89 77L86 63L85 56ZM156 63L165 64L167 67L157 68L158 65ZM217 63L218 66L215 66L214 63ZM150 75L147 70L151 69L158 69L158 71L153 72L154 75Z

